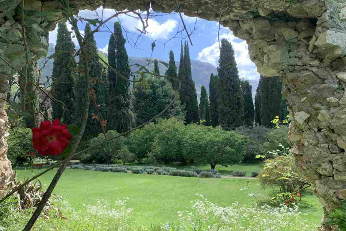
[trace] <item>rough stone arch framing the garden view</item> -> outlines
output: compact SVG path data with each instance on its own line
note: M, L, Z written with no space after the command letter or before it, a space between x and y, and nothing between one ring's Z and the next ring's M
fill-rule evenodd
M145 1L153 10L171 12L171 0ZM325 215L346 198L346 2L344 0L181 0L188 16L218 21L248 43L260 74L281 76L292 122L291 150L304 177L315 186ZM93 1L93 7L102 5ZM76 10L93 9L88 1L70 0ZM130 6L129 6L130 5ZM19 0L0 6L0 56L16 68L25 63ZM111 0L107 8L145 9L143 1ZM47 34L62 19L55 1L26 0L30 60L47 53ZM38 16L36 12L46 12ZM44 14L42 14L44 15ZM0 60L0 98L15 71ZM6 122L0 99L0 134ZM0 189L10 171L7 144L0 139ZM1 191L0 191L1 192ZM4 193L4 191L2 191ZM2 194L3 195L3 194ZM1 193L0 193L1 197ZM321 230L330 227L321 226Z

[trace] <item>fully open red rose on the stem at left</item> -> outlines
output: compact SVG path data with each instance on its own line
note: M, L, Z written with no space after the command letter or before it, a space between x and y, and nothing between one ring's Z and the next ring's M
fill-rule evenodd
M31 130L33 131L33 147L42 156L58 156L69 144L67 139L72 138L67 131L67 125L60 124L59 119L55 119L53 124L49 120L43 121L40 127L33 127Z

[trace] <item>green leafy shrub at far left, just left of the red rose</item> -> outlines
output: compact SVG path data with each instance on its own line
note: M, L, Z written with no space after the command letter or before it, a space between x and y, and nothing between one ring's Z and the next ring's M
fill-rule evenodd
M30 128L18 127L9 131L7 137L8 151L7 158L11 161L12 166L21 165L22 163L31 163L33 157L29 152L38 153L33 148L33 132ZM40 157L40 156L39 156Z

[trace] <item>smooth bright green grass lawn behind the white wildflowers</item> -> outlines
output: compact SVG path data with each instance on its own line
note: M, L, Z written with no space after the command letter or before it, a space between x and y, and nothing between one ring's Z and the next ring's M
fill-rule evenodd
M197 166L196 166L197 167ZM234 166L229 167L234 169ZM244 169L244 168L243 168ZM228 168L225 170L227 171ZM252 169L251 169L252 170ZM250 169L247 171L251 171ZM24 176L37 174L42 170L18 169L20 180ZM40 177L48 185L56 169ZM68 199L76 210L84 210L83 204L96 204L97 199L115 200L129 197L128 207L134 209L134 217L139 224L175 222L177 211L190 210L190 202L197 199L195 194L203 194L209 201L227 206L238 201L252 205L256 201L248 195L247 180L229 178L175 177L146 174L128 174L101 171L66 169L54 193ZM257 180L249 181L252 192L262 194ZM303 196L306 208L305 218L320 223L322 208L315 196Z

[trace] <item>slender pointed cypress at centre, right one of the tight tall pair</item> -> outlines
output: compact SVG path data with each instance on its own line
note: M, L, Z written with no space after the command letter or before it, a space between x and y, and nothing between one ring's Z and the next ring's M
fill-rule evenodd
M191 61L189 45L185 42L184 50L184 74L185 74L185 123L200 123L198 113L197 92L194 81L192 80Z

